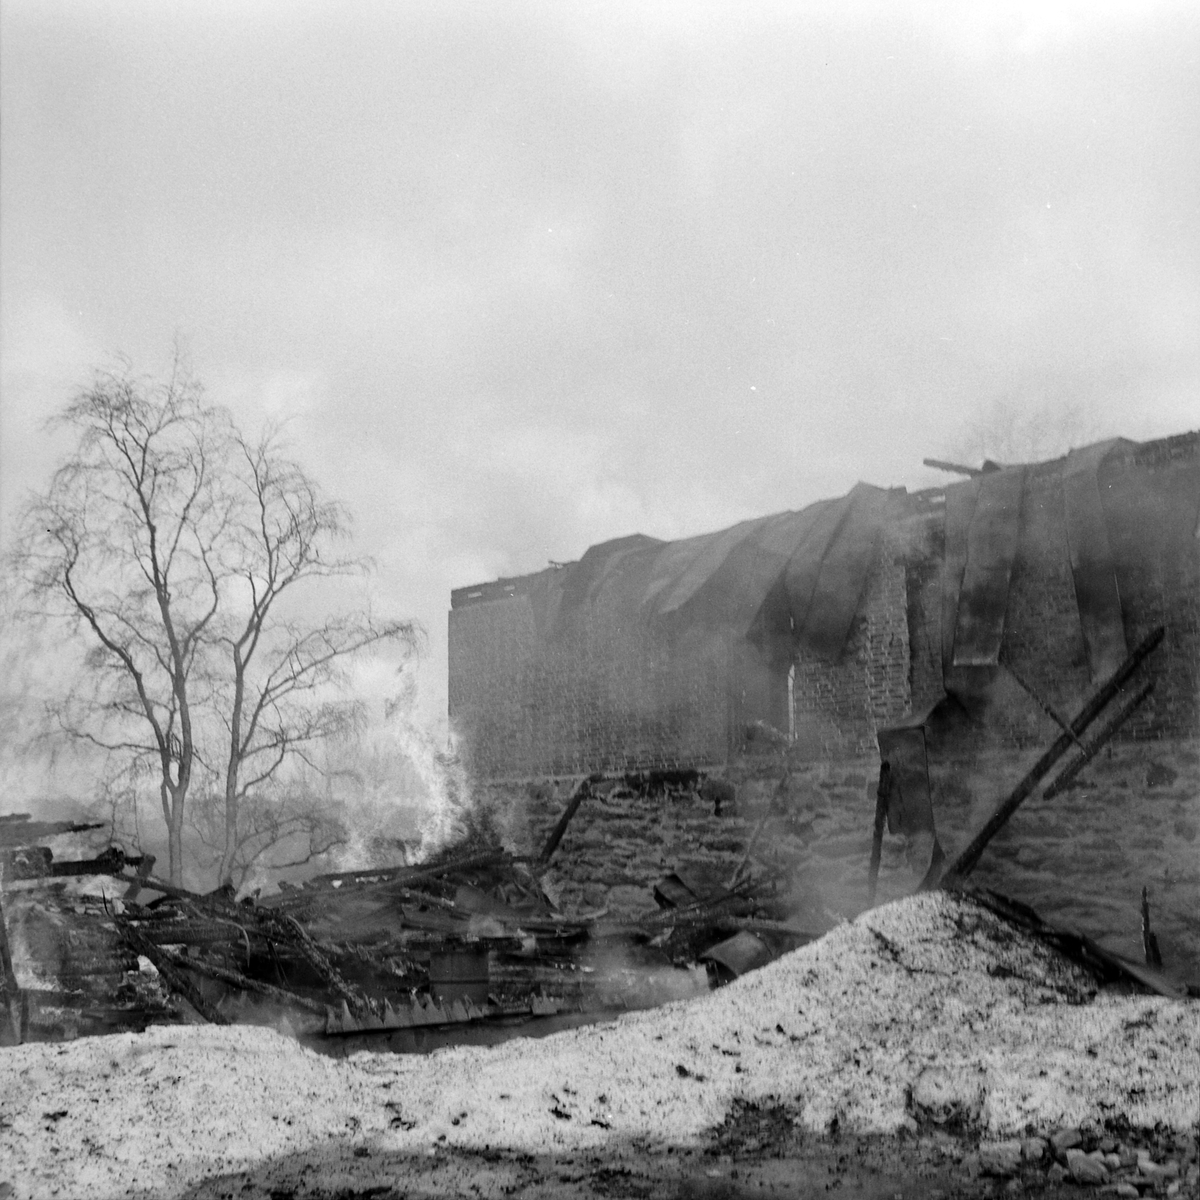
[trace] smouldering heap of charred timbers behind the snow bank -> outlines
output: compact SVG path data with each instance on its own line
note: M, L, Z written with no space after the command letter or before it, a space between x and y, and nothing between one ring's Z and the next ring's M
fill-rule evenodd
M84 828L0 817L10 1043L205 1020L286 1021L318 1040L404 1034L390 1040L420 1049L439 1044L434 1031L444 1043L650 1007L814 936L778 919L778 881L762 874L718 888L671 874L656 912L572 914L540 883L551 844L538 858L448 854L238 900L173 887L149 856L56 862L36 844ZM80 876L96 878L80 889Z

